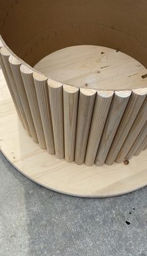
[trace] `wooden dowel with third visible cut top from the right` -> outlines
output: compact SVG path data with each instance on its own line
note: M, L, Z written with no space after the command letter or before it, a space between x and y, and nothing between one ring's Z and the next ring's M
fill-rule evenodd
M104 124L109 112L111 100L113 99L112 91L98 91L93 110L93 118L89 131L88 145L84 163L88 166L94 164L96 152L98 150L101 135L103 133ZM84 138L83 138L84 139Z

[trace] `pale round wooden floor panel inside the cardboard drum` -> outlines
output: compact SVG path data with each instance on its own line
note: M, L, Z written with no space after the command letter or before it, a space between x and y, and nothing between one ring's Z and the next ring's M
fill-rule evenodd
M131 90L147 86L146 68L141 63L103 46L67 47L44 57L34 68L53 80L79 88Z

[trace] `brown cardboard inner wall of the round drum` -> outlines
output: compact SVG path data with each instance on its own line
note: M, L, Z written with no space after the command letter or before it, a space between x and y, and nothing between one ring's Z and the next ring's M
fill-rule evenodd
M3 40L32 67L53 51L102 45L147 67L147 1L1 0Z

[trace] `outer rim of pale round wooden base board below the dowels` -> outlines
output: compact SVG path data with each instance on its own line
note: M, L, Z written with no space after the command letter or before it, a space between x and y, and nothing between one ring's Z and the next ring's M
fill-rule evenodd
M78 166L39 148L21 126L0 70L0 146L21 173L42 186L72 196L116 196L147 184L146 151L128 165Z

